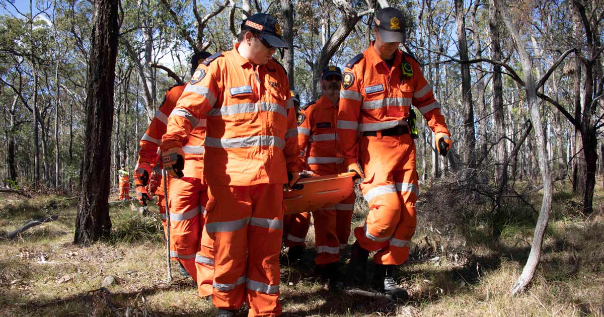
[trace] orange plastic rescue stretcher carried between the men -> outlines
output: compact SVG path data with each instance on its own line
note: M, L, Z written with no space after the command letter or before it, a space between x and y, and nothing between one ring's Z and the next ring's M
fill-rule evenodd
M355 172L300 179L302 188L284 190L285 213L298 214L336 205L355 190Z

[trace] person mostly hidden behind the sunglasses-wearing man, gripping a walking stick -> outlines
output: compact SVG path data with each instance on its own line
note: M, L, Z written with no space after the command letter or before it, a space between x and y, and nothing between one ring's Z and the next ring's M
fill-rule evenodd
M199 62L210 54L200 52L191 58L191 74ZM151 169L158 162L158 146L165 133L170 113L176 101L182 95L185 85L176 85L168 89L164 102L155 114L149 128L141 139L138 166L135 173L137 198L141 203L149 200L145 185L151 175ZM183 149L183 159L187 168L182 178L169 177L168 207L170 208L170 256L179 261L182 275L191 275L198 284L198 295L209 296L212 293L213 242L204 230L205 204L208 201L207 185L203 182L205 118L193 127ZM160 217L165 231L165 197L162 179L158 194Z

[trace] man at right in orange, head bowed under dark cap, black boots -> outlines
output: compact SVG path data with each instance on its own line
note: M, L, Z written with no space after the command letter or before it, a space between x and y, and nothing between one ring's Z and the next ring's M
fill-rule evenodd
M365 179L360 187L370 208L365 225L355 228L347 286L364 283L369 252L377 251L371 289L405 298L393 271L409 257L416 227L419 188L415 144L407 123L411 104L434 131L441 155L446 155L451 141L417 60L399 50L405 42L405 17L395 8L383 8L374 23L375 40L346 65L340 92L338 138L344 164L359 175L362 166Z

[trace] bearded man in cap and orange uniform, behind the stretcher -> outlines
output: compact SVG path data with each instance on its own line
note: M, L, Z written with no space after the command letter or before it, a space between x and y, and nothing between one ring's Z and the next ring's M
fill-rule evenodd
M326 66L320 81L323 95L319 100L307 104L298 115L298 146L310 170L318 176L344 173L347 170L347 166L342 164L344 159L341 155L338 158L336 134L341 82L340 69L333 65ZM332 208L312 213L315 220L315 264L322 277L329 280L330 289L339 280L339 255L348 243L355 198L353 193ZM296 237L295 231L306 234L308 225L306 228L292 230L292 234L288 235L288 240L304 241L305 235Z

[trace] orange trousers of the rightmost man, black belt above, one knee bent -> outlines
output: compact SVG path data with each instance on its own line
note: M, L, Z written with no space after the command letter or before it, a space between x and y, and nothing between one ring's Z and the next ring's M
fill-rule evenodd
M379 250L375 263L402 264L409 257L416 228L415 144L408 133L382 136L378 132L361 137L359 156L365 172L361 191L370 210L365 226L355 228L355 237L362 248Z

